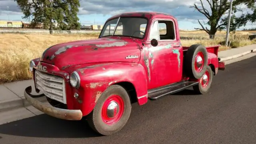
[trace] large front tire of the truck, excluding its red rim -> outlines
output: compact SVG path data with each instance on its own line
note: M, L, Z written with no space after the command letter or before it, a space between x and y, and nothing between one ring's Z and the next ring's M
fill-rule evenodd
M113 95L118 95L120 98L122 98L124 110L120 120L112 125L109 125L106 124L102 119L102 107L104 106L104 102L107 102L108 98ZM132 106L130 102L130 97L126 90L120 85L112 85L101 94L100 98L96 102L94 110L88 115L87 121L89 126L95 132L98 132L102 135L111 135L120 131L125 126L126 122L130 117L131 109ZM119 110L119 112L120 111L121 109Z

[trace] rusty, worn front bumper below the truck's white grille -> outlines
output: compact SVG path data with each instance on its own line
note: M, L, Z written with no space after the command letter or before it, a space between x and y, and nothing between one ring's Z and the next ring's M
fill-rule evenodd
M82 119L82 112L81 110L66 110L61 108L55 108L51 105L43 104L42 102L36 100L36 97L45 96L44 94L40 95L32 95L32 87L29 86L24 90L24 96L28 102L32 104L38 110L53 116L55 118L60 118L64 120L81 120Z

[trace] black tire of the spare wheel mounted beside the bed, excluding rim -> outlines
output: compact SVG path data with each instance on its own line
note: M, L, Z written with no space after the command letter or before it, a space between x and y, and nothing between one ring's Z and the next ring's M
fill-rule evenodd
M197 54L203 54L203 63L201 69L197 72L195 61L197 58ZM201 44L194 44L190 46L186 52L184 57L184 70L186 75L190 78L199 79L203 76L206 71L206 66L208 64L208 53L204 46Z

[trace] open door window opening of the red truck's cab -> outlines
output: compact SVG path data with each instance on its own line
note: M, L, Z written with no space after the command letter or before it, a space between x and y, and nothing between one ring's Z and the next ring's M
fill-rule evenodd
M160 40L175 40L175 26L171 20L159 20Z

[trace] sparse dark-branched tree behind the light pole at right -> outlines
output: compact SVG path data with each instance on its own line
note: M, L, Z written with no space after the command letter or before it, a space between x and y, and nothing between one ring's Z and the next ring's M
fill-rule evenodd
M204 30L210 35L211 39L214 39L215 33L218 30L223 30L228 24L228 17L224 17L224 14L228 14L230 9L230 0L204 0L204 2L210 7L207 10L203 0L200 0L201 6L194 4L190 8L194 8L208 19L208 22L204 23L210 26L210 29L204 27L203 24L198 20L198 23L202 28L195 28L197 30ZM232 17L230 20L230 30L235 31L242 25L245 25L248 21L252 20L252 14L242 14L240 17L236 17L234 13L243 12L244 9L237 8L240 4L245 4L247 8L255 9L255 0L233 0L232 3Z

